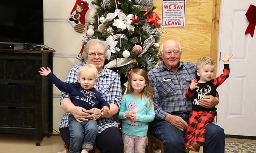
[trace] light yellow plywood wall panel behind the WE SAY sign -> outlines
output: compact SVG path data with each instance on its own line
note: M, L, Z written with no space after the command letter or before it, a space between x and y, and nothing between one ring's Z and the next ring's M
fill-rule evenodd
M155 2L154 11L161 18L162 1ZM162 36L161 45L168 39L176 40L182 48L181 61L196 63L202 56L210 56L213 0L186 0L185 27L164 27L168 31ZM160 21L159 21L160 23Z

